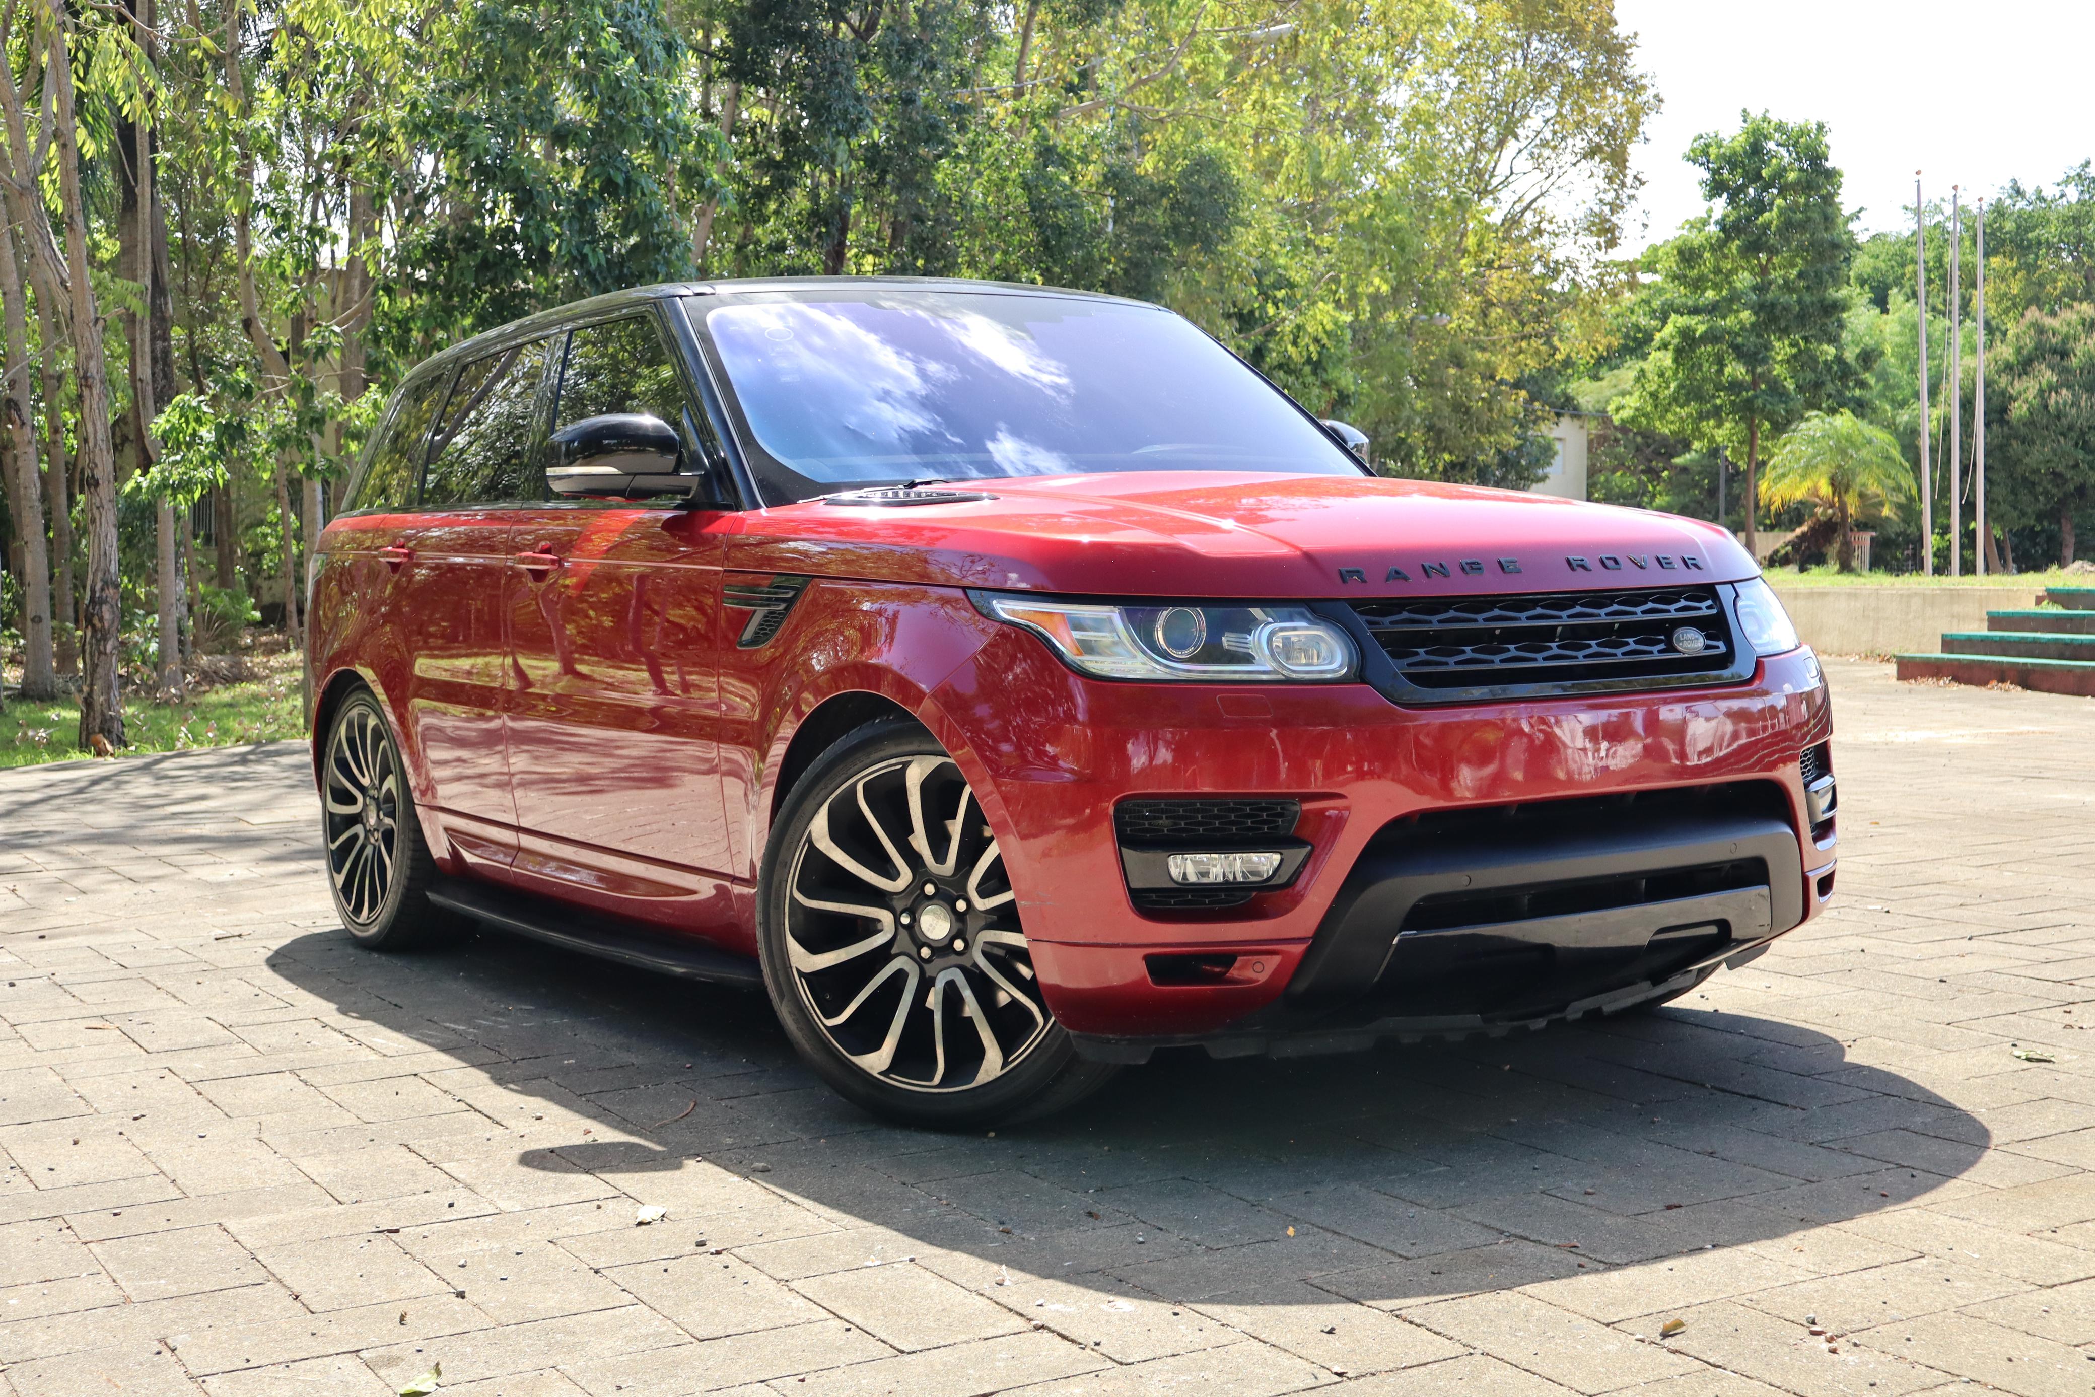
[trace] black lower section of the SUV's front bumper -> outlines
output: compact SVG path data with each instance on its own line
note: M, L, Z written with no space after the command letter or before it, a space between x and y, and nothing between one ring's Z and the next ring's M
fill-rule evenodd
M1347 873L1286 989L1215 1033L1077 1035L1087 1058L1156 1047L1299 1056L1376 1039L1504 1035L1607 1014L1745 963L1818 901L1795 831L1718 788L1435 831L1404 821Z

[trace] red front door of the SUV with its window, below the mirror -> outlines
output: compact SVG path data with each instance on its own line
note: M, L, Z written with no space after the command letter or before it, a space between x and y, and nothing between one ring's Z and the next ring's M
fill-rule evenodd
M714 463L681 356L647 308L568 337L553 431L608 413L675 425L681 471ZM727 917L714 878L727 867L714 683L723 517L687 501L547 501L517 515L507 739L520 875L656 922Z

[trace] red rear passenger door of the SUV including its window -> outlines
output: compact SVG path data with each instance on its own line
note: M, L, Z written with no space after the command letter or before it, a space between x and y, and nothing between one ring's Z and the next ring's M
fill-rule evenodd
M444 834L484 867L515 857L503 586L515 494L543 436L549 352L547 339L534 339L459 367L429 438L421 526L406 559L409 723Z

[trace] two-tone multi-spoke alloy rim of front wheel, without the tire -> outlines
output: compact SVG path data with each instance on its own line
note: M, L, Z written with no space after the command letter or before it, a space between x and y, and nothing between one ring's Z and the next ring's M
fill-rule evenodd
M878 762L823 802L790 869L802 1001L859 1070L964 1091L1033 1051L1054 1016L1004 852L949 756Z

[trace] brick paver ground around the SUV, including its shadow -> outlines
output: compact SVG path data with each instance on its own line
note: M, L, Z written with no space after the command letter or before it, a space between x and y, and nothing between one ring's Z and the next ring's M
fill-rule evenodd
M997 1137L742 993L356 951L295 746L4 773L0 1382L2091 1393L2095 704L1829 668L1837 909L1703 995Z

